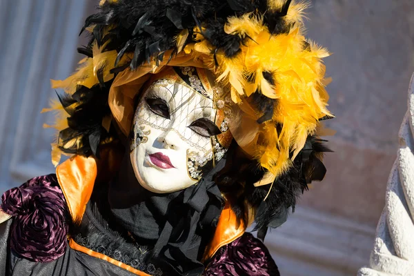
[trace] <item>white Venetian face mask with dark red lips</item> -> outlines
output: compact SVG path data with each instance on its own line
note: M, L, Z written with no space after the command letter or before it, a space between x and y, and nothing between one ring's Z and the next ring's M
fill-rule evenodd
M200 83L197 76L193 80L191 86ZM212 97L198 88L202 91L176 79L158 79L141 96L130 160L147 190L172 193L188 188L197 183L204 166L214 166L226 152L216 135L227 128L216 126Z

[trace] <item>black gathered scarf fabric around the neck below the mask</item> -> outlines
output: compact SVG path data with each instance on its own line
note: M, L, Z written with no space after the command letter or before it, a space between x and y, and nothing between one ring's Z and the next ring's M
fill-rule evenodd
M109 228L124 239L148 248L146 264L154 264L166 275L201 275L204 265L200 260L224 206L213 181L224 164L225 157L197 184L162 195L139 185L127 155L119 177L110 184L109 204L99 203L110 210L101 214L107 214ZM97 196L97 201L104 200Z

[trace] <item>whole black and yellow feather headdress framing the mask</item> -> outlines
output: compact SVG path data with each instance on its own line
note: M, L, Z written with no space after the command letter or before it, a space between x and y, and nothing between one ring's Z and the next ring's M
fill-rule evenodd
M249 160L226 185L241 185L239 206L262 210L259 226L271 226L325 174L317 130L333 117L322 63L329 54L304 37L305 8L294 0L102 0L82 29L91 36L78 49L86 59L75 75L52 81L66 91L58 112L70 115L57 126L55 164L56 148L98 156L117 137L111 119L128 135L133 99L148 75L165 66L208 68L225 88L215 102ZM128 83L135 90L119 89Z

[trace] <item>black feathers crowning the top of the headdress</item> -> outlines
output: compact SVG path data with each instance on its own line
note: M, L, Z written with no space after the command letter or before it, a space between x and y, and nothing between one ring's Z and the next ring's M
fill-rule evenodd
M224 25L228 17L248 12L262 14L268 29L278 34L288 32L290 27L284 20L289 6L290 0L281 10L270 12L266 0L119 0L103 3L99 12L86 19L82 32L94 26L91 41L96 40L98 46L105 45L103 51L116 50L117 63L126 52L132 54L130 68L133 70L150 57L174 49L177 34L183 29L193 34L195 27L203 30L202 34L217 48L216 52L223 51L227 57L234 57L244 39L250 38L226 34Z

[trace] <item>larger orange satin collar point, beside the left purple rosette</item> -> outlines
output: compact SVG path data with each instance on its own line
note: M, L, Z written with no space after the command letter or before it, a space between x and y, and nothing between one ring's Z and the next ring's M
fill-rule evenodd
M95 159L80 155L72 157L57 166L56 175L72 220L80 222L97 177Z

